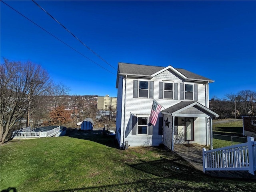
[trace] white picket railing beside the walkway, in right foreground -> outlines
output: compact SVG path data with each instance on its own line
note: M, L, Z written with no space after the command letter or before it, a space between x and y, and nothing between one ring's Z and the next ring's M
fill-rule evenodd
M203 171L246 170L256 171L256 142L247 137L247 142L233 146L206 150L203 148Z

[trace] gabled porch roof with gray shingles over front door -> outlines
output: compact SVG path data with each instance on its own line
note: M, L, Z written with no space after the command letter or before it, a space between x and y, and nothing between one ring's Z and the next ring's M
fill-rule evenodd
M194 101L181 101L174 106L162 110L162 114L180 117L218 117L219 115Z

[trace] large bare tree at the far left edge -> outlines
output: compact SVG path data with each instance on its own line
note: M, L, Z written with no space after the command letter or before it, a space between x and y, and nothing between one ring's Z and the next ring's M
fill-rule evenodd
M9 138L12 130L18 129L21 118L34 112L50 93L52 81L41 66L4 59L0 69L0 144Z

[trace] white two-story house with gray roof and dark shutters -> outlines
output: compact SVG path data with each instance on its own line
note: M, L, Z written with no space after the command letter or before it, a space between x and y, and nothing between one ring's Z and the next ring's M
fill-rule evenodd
M203 76L172 66L118 63L116 139L120 148L174 144L212 146L209 83ZM162 106L155 126L149 117L153 100Z

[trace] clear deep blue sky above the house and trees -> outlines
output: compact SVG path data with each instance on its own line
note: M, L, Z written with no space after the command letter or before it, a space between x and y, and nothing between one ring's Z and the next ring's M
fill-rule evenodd
M118 62L184 68L214 83L210 98L256 91L256 1L4 1L0 56L40 64L72 95L117 96ZM110 72L109 72L110 71Z

